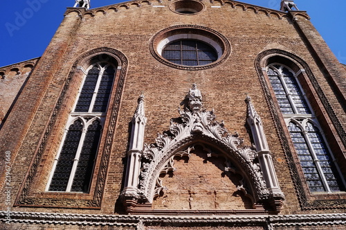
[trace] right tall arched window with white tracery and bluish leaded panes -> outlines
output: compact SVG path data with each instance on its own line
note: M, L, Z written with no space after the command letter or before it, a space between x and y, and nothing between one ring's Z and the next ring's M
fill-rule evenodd
M268 65L267 75L311 193L345 191L345 180L327 144L298 74L283 64Z

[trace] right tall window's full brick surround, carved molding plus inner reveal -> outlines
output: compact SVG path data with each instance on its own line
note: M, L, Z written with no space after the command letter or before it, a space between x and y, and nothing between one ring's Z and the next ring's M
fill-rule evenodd
M302 174L302 170L297 167L297 165L299 165L298 157L295 154L293 143L289 138L289 131L286 127L284 116L280 112L275 94L269 87L270 82L268 80L268 76L266 75L266 66L268 66L269 62L280 62L289 67L291 67L291 64L293 64L294 67L291 67L291 69L297 72L299 69L304 69L304 71L300 72L299 77L300 80L302 80L300 83L302 84L304 91L309 96L309 102L311 105L313 105L316 116L318 117L321 126L323 126L322 130L328 136L328 142L337 143L337 145L333 145L331 148L333 148L334 155L337 158L339 165L346 163L346 159L343 157L346 146L345 130L343 130L343 126L338 120L336 112L334 111L333 107L331 107L329 99L320 87L320 83L314 76L313 71L311 71L309 68L307 62L293 53L280 49L269 49L262 51L262 53L257 55L254 62L255 69L257 71L260 84L262 85L268 108L270 109L271 116L273 117L277 135L280 139L280 143L286 157L286 162L288 163L289 170L291 171L291 178L293 180L293 184L295 184L295 190L300 201L301 209L345 209L346 193L310 193L309 188L307 188L307 184L304 183L304 175ZM316 111L316 109L318 111ZM343 175L345 178L346 172L343 168L341 168L341 170L341 175Z

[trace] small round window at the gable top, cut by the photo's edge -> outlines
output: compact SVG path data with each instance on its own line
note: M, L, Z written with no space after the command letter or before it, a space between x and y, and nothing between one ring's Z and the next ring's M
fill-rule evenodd
M170 3L170 10L181 15L195 15L204 8L204 4L199 1L183 0Z

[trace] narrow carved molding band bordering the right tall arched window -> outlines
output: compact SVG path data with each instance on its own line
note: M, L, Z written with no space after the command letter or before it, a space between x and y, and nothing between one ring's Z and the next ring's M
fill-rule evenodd
M329 200L329 199L326 199L325 197L323 199L318 199L318 197L316 197L316 200L313 200L309 198L309 194L307 194L308 192L304 191L304 186L302 185L303 182L298 173L298 168L295 165L296 163L293 158L293 152L291 152L291 148L289 147L289 139L285 135L285 132L284 132L284 124L280 121L280 109L278 109L274 103L274 100L271 96L271 91L269 90L269 87L266 84L266 80L263 74L262 68L264 67L262 67L261 62L266 57L272 57L273 55L280 55L280 57L286 57L289 60L294 60L294 62L299 63L302 66L302 69L304 69L305 72L307 73L307 76L309 80L311 81L313 88L318 93L318 96L320 97L322 105L327 110L329 118L331 118L331 122L336 128L336 131L338 132L340 139L345 146L346 146L346 132L343 129L343 126L341 125L340 121L338 120L338 117L336 116L334 109L331 107L331 104L329 103L327 96L322 91L322 88L320 87L318 80L316 79L316 77L313 75L313 72L309 68L307 62L302 60L297 55L294 55L293 53L282 51L280 49L271 49L271 50L263 51L262 53L257 55L255 59L255 69L257 71L257 76L260 78L260 83L264 91L264 96L266 98L268 108L271 111L271 116L273 118L275 129L277 130L277 134L280 139L280 143L284 150L284 154L286 156L286 161L288 163L289 170L291 171L291 177L293 179L293 184L295 185L295 190L297 191L297 194L298 194L298 199L300 200L300 206L302 207L302 210L345 209L345 206L346 206L345 199L340 198L339 200L334 200L334 199ZM333 195L333 194L331 193L330 195Z

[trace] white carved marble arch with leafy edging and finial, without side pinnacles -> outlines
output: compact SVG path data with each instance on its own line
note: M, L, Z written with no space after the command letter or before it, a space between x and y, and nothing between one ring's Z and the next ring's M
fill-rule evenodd
M192 94L192 92L194 92ZM266 200L269 191L266 188L262 171L255 163L257 153L248 147L241 147L243 140L238 134L228 134L224 123L216 121L214 111L206 111L205 109L195 109L190 105L191 98L201 101L200 91L194 85L189 92L189 107L179 109L180 121L171 121L170 132L158 134L155 144L145 145L143 150L143 158L145 162L142 166L140 174L139 193L143 195L143 200L152 203L155 191L156 180L170 157L183 146L189 144L196 139L208 141L228 152L230 158L234 159L242 166L242 170L251 178L251 186L255 191L255 200ZM190 108L190 109L189 109ZM185 148L186 148L185 147Z

